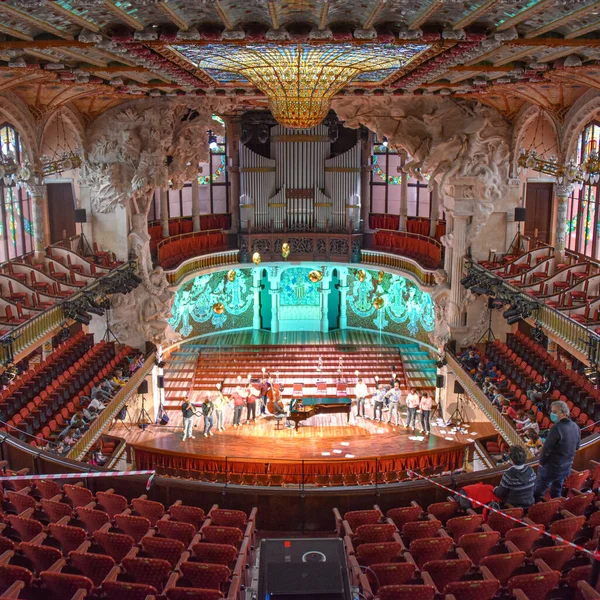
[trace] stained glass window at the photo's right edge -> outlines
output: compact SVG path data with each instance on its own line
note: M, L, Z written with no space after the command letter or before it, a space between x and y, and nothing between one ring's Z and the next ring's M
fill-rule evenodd
M592 150L598 150L600 122L588 123L577 143L577 161L581 164ZM600 258L600 222L598 198L600 184L577 186L567 207L567 240L569 250L592 258Z

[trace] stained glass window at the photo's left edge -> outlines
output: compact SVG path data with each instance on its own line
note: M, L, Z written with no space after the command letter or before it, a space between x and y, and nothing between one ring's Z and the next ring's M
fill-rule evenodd
M10 124L0 126L0 150L22 164L19 132ZM31 198L24 188L0 179L0 262L33 252Z

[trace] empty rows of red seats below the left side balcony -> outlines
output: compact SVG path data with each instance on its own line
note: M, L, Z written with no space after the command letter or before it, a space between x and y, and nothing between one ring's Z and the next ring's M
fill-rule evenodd
M0 431L6 431L27 442L48 423L44 430L49 428L49 432L46 436L40 432L39 441L58 435L81 407L80 398L84 393L80 390L87 389L89 395L89 384L84 388L85 381L88 380L87 373L91 370L92 373L100 373L102 378L108 376L125 355L123 351L121 353L114 357L114 344L96 344L75 365L59 375L18 413L13 414L6 425L0 427ZM100 375L97 375L95 380L99 379ZM35 443L35 440L32 441Z

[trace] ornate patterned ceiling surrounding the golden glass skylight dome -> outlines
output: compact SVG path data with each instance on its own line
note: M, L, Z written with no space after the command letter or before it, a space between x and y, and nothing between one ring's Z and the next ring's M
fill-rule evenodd
M330 46L355 64L364 53L387 61L358 69L335 94L477 98L508 117L527 101L563 114L600 87L599 13L596 0L6 0L0 85L36 114L99 91L93 114L145 95L216 93L240 110L265 108L264 87L224 63L252 48ZM465 65L474 69L457 70Z

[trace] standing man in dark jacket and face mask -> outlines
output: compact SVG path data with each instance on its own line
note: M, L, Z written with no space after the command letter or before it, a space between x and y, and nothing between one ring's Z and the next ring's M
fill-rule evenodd
M571 472L575 452L581 444L579 426L571 421L567 403L557 400L550 409L550 419L554 426L550 429L540 454L534 491L536 502L541 500L548 488L552 498L560 496L562 484Z

